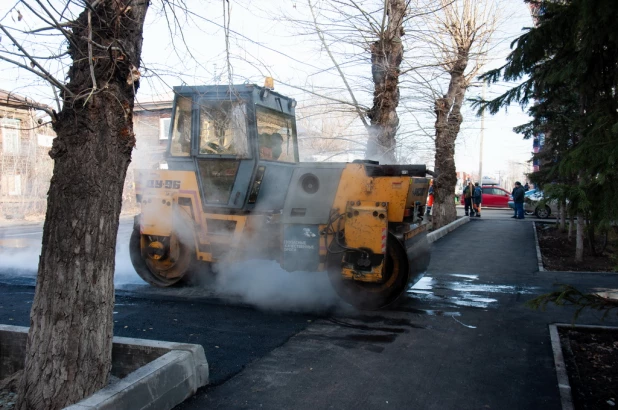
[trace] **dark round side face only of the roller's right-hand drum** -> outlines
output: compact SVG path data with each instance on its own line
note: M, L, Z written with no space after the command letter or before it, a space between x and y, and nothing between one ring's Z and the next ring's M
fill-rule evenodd
M361 282L341 276L341 253L331 253L328 276L333 287L346 302L366 310L376 310L393 304L405 293L410 271L406 251L399 240L388 235L382 283Z

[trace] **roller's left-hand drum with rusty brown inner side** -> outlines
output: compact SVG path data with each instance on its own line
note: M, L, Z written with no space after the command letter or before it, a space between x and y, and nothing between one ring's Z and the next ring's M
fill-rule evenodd
M191 248L175 234L163 238L142 235L139 226L133 229L129 250L137 274L157 287L179 282L193 263Z

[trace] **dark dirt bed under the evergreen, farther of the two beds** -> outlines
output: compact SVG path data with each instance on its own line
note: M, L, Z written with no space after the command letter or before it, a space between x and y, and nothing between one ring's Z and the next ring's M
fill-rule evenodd
M548 271L617 272L618 240L610 236L608 245L600 256L590 252L585 243L584 260L575 262L575 234L571 240L554 224L536 224L543 266Z

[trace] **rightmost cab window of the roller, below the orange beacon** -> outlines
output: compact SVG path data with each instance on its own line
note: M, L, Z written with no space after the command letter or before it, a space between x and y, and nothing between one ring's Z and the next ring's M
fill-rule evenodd
M256 107L260 159L297 162L296 134L290 117Z

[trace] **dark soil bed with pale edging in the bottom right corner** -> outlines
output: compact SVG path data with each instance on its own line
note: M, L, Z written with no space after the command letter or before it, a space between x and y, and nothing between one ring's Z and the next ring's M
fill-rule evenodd
M576 410L618 405L618 330L560 328Z

